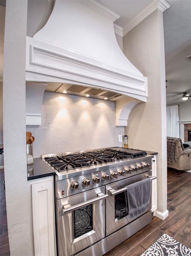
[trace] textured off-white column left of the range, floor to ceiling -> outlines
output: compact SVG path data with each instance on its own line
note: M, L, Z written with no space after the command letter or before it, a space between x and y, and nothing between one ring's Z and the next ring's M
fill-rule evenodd
M26 163L27 5L27 0L6 1L3 132L7 221L12 256L32 255Z

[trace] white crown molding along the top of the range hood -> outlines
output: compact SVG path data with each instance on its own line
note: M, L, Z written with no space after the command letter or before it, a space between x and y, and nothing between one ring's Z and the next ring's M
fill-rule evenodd
M102 4L96 2L95 0L76 0L76 1L85 5L86 7L90 8L91 10L101 14L102 16L104 16L105 18L107 18L113 22L120 18L120 16L118 14L116 14L115 12L112 12L111 10L109 10Z

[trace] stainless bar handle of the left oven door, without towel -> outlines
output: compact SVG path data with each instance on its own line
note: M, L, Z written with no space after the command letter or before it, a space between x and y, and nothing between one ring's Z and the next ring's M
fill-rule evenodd
M103 200L107 197L108 197L108 194L104 195L103 193L99 193L99 194L97 194L96 198L90 199L90 200L80 203L80 204L76 204L74 206L70 206L70 204L62 205L62 207L63 207L62 213L63 214L70 213L74 210L77 210L77 209L84 207L86 205L89 205L89 204L93 204L93 203Z

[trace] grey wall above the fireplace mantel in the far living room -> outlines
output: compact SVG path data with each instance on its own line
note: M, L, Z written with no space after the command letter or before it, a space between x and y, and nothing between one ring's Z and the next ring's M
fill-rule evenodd
M167 106L174 106L174 105L179 105L178 113L179 113L180 121L191 120L191 100L167 104Z

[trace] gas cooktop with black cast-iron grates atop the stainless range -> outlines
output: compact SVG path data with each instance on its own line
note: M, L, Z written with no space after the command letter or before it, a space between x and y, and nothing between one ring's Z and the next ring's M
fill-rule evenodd
M146 155L145 151L125 148L105 148L47 155L44 159L58 172Z

